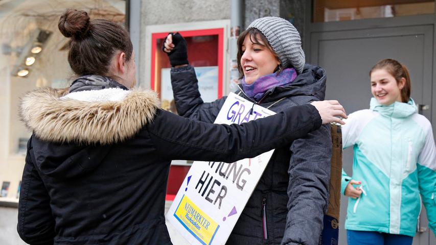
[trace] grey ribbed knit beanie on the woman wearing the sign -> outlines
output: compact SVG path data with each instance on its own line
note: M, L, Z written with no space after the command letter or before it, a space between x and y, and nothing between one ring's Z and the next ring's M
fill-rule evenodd
M300 34L289 21L263 17L251 22L248 28L258 29L266 37L272 50L279 55L283 68L292 65L299 74L303 72L305 56Z

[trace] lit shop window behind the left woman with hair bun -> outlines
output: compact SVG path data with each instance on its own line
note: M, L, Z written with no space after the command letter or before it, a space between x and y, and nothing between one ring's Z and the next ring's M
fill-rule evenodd
M73 79L69 39L57 25L67 8L84 10L91 19L125 23L123 0L0 1L0 202L18 201L31 135L18 117L20 97L36 87L68 87Z

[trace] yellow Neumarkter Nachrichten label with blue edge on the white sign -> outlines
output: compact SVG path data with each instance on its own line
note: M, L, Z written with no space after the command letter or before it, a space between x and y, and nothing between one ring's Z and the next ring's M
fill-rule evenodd
M219 228L219 225L201 211L186 195L183 195L174 212L174 217L204 245L211 244Z

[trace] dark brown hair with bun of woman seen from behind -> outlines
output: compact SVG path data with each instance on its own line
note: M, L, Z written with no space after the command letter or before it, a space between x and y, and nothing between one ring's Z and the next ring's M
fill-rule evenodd
M126 54L126 62L133 52L128 32L121 24L109 20L90 20L88 13L66 9L59 18L59 31L71 38L68 63L78 76L109 77L109 67L117 51Z

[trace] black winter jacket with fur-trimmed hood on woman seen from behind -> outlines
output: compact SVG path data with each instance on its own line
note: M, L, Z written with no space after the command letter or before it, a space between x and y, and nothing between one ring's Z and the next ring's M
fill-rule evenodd
M234 162L321 124L311 105L236 127L160 110L152 91L65 91L37 89L20 105L33 135L17 230L30 244L171 244L164 217L171 160ZM276 129L264 130L270 125Z

